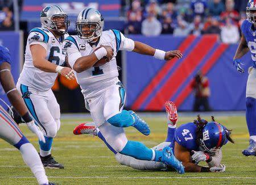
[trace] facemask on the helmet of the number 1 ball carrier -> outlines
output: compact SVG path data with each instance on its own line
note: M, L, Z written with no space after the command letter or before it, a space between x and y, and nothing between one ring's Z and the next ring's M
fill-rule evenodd
M90 43L101 36L102 28L96 22L79 22L76 23L76 31L80 39L84 39Z

